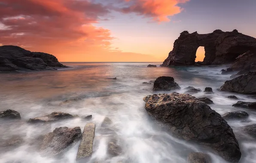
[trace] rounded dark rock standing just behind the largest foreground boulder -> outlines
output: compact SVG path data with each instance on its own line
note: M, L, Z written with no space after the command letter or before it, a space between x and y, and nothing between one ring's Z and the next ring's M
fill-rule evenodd
M172 91L179 89L180 86L174 82L174 78L170 76L158 77L153 85L153 91Z

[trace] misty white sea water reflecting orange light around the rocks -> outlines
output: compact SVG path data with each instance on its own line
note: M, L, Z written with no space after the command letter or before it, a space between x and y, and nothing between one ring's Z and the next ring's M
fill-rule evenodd
M248 95L216 91L229 80L230 75L221 75L220 70L228 66L201 67L146 67L149 63L63 63L71 66L58 71L39 71L0 74L0 110L13 109L21 114L20 121L0 121L0 138L19 135L25 143L16 148L0 147L0 163L75 163L79 142L61 158L41 156L33 150L30 142L37 136L52 132L56 127L81 127L96 124L93 155L88 161L104 163L186 163L191 151L210 154L213 163L226 163L220 157L205 151L200 146L177 139L160 130L148 117L143 97L154 94L153 85L142 82L155 80L159 76L172 76L183 93L188 86L213 88L214 94L194 94L195 97L210 97L214 104L211 109L219 114L244 110L250 116L246 121L228 121L238 139L242 158L240 163L256 162L256 140L247 137L239 127L255 124L256 112L234 108L238 100L226 98L235 95L241 101L255 100ZM150 63L159 66L161 63ZM107 78L117 78L116 80ZM166 91L165 93L171 93ZM58 106L64 100L81 98L79 103ZM52 112L67 112L72 115L92 115L91 121L81 118L57 121L50 126L27 124L35 118ZM110 157L107 154L107 140L99 134L105 117L113 121L122 147L122 154Z

